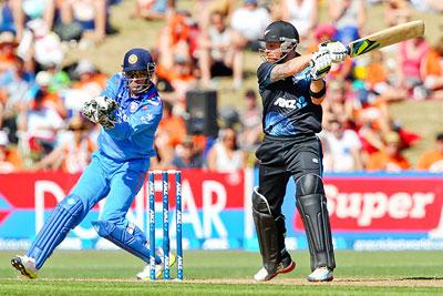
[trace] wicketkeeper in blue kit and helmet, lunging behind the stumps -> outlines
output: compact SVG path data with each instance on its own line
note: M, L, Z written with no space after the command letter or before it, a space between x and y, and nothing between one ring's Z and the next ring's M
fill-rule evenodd
M68 233L81 223L87 212L106 197L99 221L99 235L121 248L150 262L145 234L126 213L150 169L154 133L163 113L163 103L152 83L155 64L144 49L132 49L123 59L123 71L111 76L102 95L85 103L83 114L102 125L99 150L70 194L61 201L31 247L14 256L12 266L22 275L35 278L39 269ZM156 276L163 272L162 249L156 256ZM169 264L175 256L169 255ZM148 278L148 265L137 274Z

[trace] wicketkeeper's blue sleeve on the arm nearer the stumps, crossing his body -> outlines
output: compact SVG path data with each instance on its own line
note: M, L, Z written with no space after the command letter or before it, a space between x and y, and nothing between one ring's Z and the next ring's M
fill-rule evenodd
M163 114L163 104L157 99L141 104L137 112L132 114L126 122L116 123L113 129L105 131L114 139L124 140L133 134L152 130L153 134L158 126Z

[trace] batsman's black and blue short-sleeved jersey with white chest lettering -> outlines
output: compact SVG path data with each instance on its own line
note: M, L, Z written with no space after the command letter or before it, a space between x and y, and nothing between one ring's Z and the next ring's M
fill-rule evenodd
M265 134L297 137L320 132L322 110L321 105L312 103L309 94L309 68L285 80L271 82L274 67L264 62L257 70Z

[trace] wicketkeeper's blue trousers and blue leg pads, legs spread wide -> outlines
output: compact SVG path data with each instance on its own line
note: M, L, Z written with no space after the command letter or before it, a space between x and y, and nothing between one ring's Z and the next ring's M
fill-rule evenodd
M79 225L104 197L106 201L100 221L93 223L99 235L148 262L145 234L132 223L128 225L126 220L148 167L148 160L116 163L95 152L71 193L58 204L28 251L27 255L35 259L35 267L44 264L69 231Z

